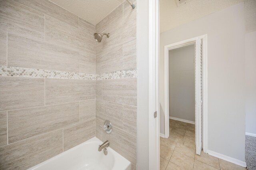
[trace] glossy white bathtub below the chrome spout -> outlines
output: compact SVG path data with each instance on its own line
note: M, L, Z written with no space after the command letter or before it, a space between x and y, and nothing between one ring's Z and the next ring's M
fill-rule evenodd
M131 163L112 148L108 154L98 146L103 142L94 137L57 156L54 156L29 170L130 170Z

